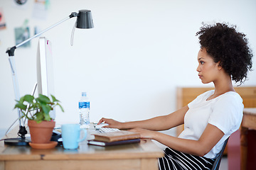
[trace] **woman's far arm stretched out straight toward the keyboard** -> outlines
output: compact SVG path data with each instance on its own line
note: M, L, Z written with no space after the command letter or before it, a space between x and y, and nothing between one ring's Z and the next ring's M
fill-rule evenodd
M98 124L107 123L109 125L105 128L119 128L119 129L133 129L133 128L143 128L146 130L168 130L174 128L177 125L182 125L184 123L184 116L188 111L188 106L185 106L174 113L169 115L162 115L155 118L120 123L116 120L102 118Z

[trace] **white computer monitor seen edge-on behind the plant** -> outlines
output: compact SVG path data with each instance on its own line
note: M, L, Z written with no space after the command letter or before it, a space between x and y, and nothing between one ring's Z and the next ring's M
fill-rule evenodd
M53 82L53 52L51 42L45 37L39 38L36 56L36 71L38 94L51 98L54 96ZM50 117L55 119L55 109L50 111Z

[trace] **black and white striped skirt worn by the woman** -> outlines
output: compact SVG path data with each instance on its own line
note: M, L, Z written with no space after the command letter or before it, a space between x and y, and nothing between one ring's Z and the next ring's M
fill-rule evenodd
M212 169L215 159L184 154L166 147L164 157L159 158L159 169Z

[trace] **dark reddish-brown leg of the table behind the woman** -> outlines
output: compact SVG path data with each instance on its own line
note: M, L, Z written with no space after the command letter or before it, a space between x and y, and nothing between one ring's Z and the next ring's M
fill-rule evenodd
M248 128L242 127L240 133L241 170L246 170L247 164L247 133Z

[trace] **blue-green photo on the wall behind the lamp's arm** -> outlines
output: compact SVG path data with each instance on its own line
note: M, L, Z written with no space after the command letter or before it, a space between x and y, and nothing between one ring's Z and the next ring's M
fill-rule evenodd
M15 28L15 40L16 40L16 45L19 43L23 42L24 40L27 40L29 38L30 32L29 28ZM21 45L21 47L30 47L31 43L30 41L26 42L25 44Z

